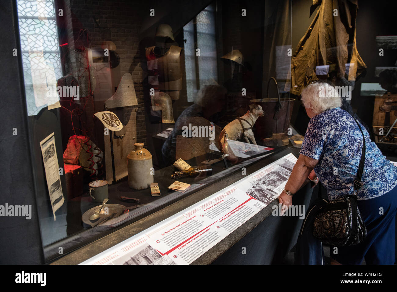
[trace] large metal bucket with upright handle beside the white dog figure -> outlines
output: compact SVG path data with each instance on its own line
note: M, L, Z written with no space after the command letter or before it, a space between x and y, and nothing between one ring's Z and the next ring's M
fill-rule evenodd
M269 84L273 80L276 84L278 98L261 98L251 100L254 104L262 106L264 116L258 117L255 123L255 136L260 138L266 146L285 146L289 144L287 131L291 121L294 98L280 98L277 81L274 77L268 81L267 96L269 97Z

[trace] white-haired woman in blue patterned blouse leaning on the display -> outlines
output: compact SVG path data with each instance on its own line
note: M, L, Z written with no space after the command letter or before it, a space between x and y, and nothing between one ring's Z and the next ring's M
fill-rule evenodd
M341 98L327 83L311 83L302 92L302 102L310 122L302 149L284 191L279 196L283 208L314 169L327 189L329 200L353 194L353 182L362 152L362 134L353 117L340 108ZM358 209L367 236L355 246L341 246L334 263L390 264L395 262L395 216L397 211L397 168L385 159L360 125L366 143L364 184L357 192ZM312 177L311 177L312 178Z

